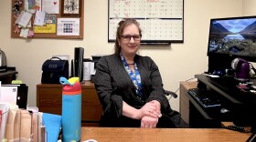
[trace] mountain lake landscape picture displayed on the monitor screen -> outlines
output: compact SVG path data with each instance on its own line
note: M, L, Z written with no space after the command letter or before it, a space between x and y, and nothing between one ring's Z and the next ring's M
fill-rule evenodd
M256 57L256 17L211 20L208 53Z

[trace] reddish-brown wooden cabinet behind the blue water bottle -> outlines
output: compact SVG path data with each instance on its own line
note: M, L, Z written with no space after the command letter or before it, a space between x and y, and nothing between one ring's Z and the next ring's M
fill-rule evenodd
M37 85L37 107L39 111L61 115L62 88L60 84ZM99 127L102 107L94 84L86 81L81 84L81 122L82 126Z

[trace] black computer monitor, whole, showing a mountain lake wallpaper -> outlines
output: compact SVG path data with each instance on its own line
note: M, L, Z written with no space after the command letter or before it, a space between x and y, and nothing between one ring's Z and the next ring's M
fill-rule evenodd
M208 72L225 72L240 57L256 62L256 16L215 18L208 35Z

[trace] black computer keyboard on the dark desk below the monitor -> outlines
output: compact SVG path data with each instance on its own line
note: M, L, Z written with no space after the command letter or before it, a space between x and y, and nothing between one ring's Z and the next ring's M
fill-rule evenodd
M191 88L188 89L187 93L204 108L221 106L219 98L209 90Z

